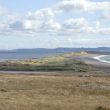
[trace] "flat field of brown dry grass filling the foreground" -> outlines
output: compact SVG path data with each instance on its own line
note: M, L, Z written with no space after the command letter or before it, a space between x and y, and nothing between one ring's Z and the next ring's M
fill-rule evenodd
M2 74L0 110L109 110L109 86L109 77Z

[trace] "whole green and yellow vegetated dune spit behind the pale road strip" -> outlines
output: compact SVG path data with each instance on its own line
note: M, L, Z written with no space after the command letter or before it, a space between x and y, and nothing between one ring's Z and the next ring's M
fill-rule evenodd
M87 72L94 70L91 66L72 57L85 55L87 53L70 53L59 56L46 57L42 59L16 60L0 63L0 70L17 71L73 71Z

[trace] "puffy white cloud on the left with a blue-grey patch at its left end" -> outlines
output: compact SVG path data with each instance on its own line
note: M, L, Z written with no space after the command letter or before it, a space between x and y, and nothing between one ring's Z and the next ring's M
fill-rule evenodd
M18 19L9 24L10 29L21 32L57 32L61 29L61 24L47 14L35 17L32 15L26 16L24 20ZM33 18L33 19L32 19Z

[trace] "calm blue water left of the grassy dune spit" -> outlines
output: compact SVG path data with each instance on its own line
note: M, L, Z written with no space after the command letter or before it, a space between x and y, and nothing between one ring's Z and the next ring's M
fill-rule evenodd
M61 53L36 53L36 52L0 52L0 61L4 60L26 60L58 55Z

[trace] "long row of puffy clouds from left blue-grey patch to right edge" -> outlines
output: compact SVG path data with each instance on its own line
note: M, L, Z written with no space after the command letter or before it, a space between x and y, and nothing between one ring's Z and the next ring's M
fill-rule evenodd
M63 23L57 22L52 18L48 19L19 19L9 25L13 31L32 34L35 33L56 33L56 35L73 35L81 33L89 34L110 34L110 28L101 26L100 21L96 21L95 25L91 24L85 18L71 18Z

